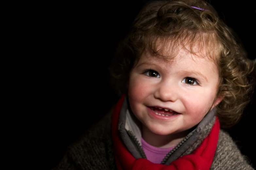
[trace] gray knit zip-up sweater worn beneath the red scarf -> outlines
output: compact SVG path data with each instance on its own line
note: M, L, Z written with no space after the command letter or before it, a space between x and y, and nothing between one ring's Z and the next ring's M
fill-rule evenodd
M124 106L122 109L124 109ZM121 113L120 117L122 117ZM208 116L208 120L209 119L210 118ZM120 121L124 121L124 118L122 117L121 120L119 119L119 122ZM190 137L191 140L185 142L182 147L179 147L175 152L176 155L172 155L165 164L170 164L171 161L174 161L173 159L177 159L180 156L191 154L210 133L214 121L215 119L213 117L210 121L204 121L204 123L200 122L199 125L204 124L200 133L197 133L197 136L195 135L198 125L197 128L194 129L194 136ZM205 124L205 122L207 123ZM202 128L202 126L200 128ZM119 130L122 131L124 129ZM127 147L127 144L125 145ZM133 150L132 152L133 155L136 155L136 151L134 152ZM111 113L109 113L98 123L94 124L84 136L67 149L63 159L53 170L115 169L116 166L111 138ZM241 154L240 150L237 148L228 133L220 130L218 145L211 170L253 170L253 168L250 166L246 157Z

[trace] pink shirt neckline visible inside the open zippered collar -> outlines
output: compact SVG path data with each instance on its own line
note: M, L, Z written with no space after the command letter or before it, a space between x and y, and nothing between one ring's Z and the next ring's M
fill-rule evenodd
M146 157L152 163L161 163L163 158L169 153L174 147L171 148L157 148L149 145L143 138L141 138L142 149L144 150Z

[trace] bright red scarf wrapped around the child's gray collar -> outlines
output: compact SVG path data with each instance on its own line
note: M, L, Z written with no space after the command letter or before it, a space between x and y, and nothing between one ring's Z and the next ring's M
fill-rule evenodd
M118 170L209 170L219 138L220 124L216 117L210 134L192 154L179 157L170 165L152 163L144 158L135 159L121 142L117 124L124 101L123 95L116 104L112 116L112 139L115 162Z

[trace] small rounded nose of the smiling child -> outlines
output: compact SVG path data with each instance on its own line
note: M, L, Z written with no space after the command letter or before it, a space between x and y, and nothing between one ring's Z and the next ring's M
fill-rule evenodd
M162 82L155 90L154 97L164 102L175 102L178 99L178 93L177 85L170 82Z

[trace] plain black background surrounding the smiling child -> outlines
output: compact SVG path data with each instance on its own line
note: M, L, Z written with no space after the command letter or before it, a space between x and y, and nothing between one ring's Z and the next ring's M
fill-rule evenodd
M107 68L145 1L37 4L15 15L2 121L4 169L51 169L65 148L115 103ZM255 59L255 4L212 0ZM256 166L255 94L229 129ZM1 168L2 169L2 168Z

